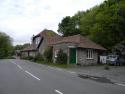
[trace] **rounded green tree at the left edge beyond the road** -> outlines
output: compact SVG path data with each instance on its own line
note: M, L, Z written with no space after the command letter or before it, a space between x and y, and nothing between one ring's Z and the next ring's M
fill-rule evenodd
M7 34L0 32L0 58L10 56L12 50L13 46L11 38Z

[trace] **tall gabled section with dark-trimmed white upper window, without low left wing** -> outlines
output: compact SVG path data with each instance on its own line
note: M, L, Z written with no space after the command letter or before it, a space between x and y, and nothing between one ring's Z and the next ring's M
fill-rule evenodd
M33 36L32 45L33 48L37 49L38 53L43 55L48 46L61 39L62 37L54 31L45 29L36 36Z

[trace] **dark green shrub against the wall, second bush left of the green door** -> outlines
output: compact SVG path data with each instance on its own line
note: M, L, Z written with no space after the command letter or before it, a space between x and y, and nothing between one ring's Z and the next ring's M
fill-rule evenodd
M47 47L44 51L44 57L47 62L52 62L52 57L53 57L53 48L52 47Z

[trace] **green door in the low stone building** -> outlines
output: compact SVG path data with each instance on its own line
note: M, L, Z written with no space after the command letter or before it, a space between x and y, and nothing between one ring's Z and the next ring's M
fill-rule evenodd
M76 48L69 49L69 64L76 64Z

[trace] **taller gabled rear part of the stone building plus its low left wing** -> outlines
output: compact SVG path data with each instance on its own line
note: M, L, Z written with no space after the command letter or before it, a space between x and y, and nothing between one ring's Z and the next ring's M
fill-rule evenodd
M61 39L61 36L52 30L44 29L39 34L32 37L32 44L27 45L22 51L22 56L35 56L40 53L43 55L45 49Z

